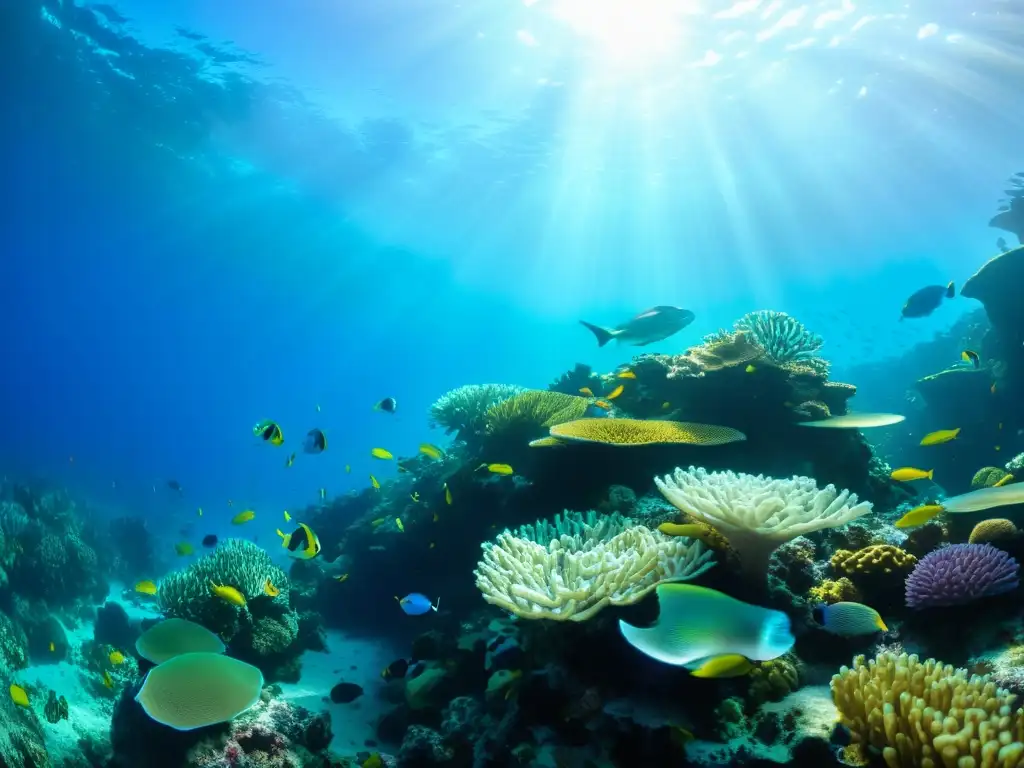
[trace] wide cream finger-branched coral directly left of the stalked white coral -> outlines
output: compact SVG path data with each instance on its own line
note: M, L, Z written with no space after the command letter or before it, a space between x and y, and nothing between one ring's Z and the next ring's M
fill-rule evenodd
M662 582L695 579L714 553L700 542L670 538L643 525L580 526L547 545L508 530L483 544L474 571L492 605L523 618L585 622L608 605L635 603Z

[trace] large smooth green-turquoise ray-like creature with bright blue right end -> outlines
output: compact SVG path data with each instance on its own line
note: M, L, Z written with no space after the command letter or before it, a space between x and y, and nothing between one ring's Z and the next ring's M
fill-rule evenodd
M655 594L660 611L652 626L620 620L618 629L630 645L658 662L684 667L722 655L766 662L796 642L782 611L690 584L659 584Z

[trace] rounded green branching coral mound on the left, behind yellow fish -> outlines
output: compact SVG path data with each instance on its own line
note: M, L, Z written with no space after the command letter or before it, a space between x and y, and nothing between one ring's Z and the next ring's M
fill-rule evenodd
M276 597L263 594L267 579L281 591ZM201 624L228 642L241 630L242 611L215 597L211 582L236 588L246 600L288 606L288 575L258 546L238 539L228 539L187 568L166 577L160 585L160 605L168 616Z

